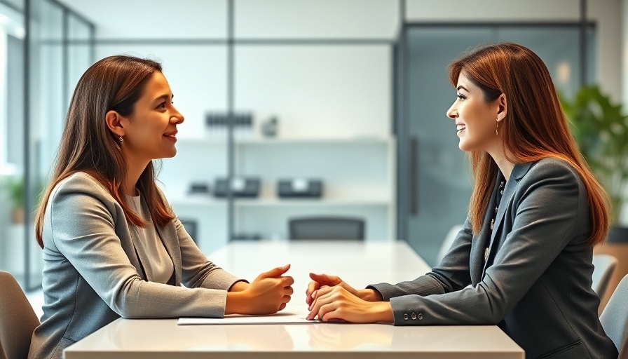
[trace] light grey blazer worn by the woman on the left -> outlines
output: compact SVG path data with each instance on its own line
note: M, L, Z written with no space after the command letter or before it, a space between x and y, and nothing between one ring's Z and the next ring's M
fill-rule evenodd
M60 182L43 221L45 304L29 358L61 358L120 317L224 316L226 290L240 279L208 261L179 219L157 231L175 266L168 284L144 273L150 258L138 256L135 232L109 191L83 172Z

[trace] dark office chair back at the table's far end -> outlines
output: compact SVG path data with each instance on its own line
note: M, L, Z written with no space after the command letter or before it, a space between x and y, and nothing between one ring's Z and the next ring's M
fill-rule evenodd
M288 221L290 239L348 239L364 241L364 219L303 217Z

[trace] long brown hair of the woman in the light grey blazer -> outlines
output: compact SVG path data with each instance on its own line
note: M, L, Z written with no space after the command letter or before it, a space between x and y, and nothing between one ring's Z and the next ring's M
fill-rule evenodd
M117 55L105 57L92 65L78 80L70 102L65 128L57 151L50 184L43 191L35 222L37 243L43 248L43 217L53 188L76 172L94 177L123 208L128 222L146 226L146 221L133 212L123 200L121 186L127 163L118 147L116 136L105 122L108 111L130 116L144 87L161 65L153 60ZM158 226L168 224L174 215L157 189L156 169L149 162L139 176L137 189L144 196L151 218Z

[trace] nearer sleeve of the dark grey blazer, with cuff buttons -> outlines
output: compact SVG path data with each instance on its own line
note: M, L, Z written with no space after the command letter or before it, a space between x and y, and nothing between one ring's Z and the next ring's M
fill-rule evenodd
M588 216L586 190L567 165L535 165L519 183L512 230L475 287L390 299L395 325L494 325L524 297ZM584 203L584 204L582 204ZM590 233L582 234L587 241ZM404 320L421 313L420 320Z

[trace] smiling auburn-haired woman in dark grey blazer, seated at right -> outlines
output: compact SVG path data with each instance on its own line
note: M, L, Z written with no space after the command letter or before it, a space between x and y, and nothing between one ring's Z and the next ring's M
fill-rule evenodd
M356 290L311 273L309 319L498 325L526 358L617 358L592 290L608 200L569 132L547 67L498 43L449 65L447 116L470 154L469 214L449 252L408 282Z

